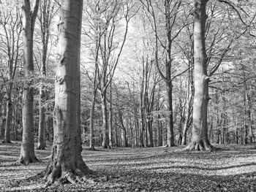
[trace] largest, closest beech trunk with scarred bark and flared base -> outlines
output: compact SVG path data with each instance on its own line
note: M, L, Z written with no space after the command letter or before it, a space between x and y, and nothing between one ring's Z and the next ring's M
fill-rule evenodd
M80 34L83 1L62 0L59 62L56 68L52 158L45 170L48 183L57 178L76 183L91 173L81 156ZM78 176L78 177L77 177Z

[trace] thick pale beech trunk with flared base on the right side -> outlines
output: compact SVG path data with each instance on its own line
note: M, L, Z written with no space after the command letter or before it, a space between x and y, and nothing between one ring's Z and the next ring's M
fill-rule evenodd
M195 1L194 12L194 58L195 58L195 98L193 105L192 138L187 150L213 150L208 141L207 107L208 83L207 55L205 45L206 4L208 0Z

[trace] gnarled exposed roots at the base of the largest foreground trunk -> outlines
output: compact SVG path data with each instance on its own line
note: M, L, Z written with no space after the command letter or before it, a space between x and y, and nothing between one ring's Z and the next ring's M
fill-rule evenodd
M51 162L48 164L47 168L42 175L44 175L44 180L46 180L46 186L51 185L55 181L60 183L94 183L91 179L94 174L91 169L86 166L84 162L79 162L78 166L74 169L67 169L63 166L53 166Z

